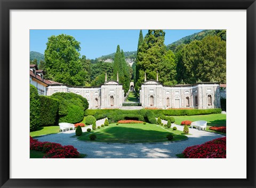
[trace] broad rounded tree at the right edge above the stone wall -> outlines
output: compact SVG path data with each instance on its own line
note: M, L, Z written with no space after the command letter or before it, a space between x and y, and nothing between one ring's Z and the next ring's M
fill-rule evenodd
M195 83L201 80L226 83L225 40L221 40L218 36L195 40L182 49L181 56L179 66L183 71L184 82Z

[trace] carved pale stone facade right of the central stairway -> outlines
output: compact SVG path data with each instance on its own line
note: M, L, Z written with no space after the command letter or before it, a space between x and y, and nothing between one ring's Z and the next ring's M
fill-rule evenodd
M163 86L157 80L147 80L141 86L140 102L143 108L220 108L220 84Z

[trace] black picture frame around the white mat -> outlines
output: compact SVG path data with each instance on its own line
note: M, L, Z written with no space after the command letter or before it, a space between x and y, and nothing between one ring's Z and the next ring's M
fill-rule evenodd
M1 187L255 187L255 0L0 0L0 186ZM246 10L247 178L246 179L11 179L10 178L10 10L172 9ZM250 100L249 100L250 99ZM245 126L245 125L241 125ZM239 161L238 161L239 163ZM234 164L234 170L236 166ZM188 177L188 175L184 175Z

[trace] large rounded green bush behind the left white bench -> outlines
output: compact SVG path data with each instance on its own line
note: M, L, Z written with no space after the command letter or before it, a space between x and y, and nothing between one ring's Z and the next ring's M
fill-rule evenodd
M51 98L59 101L59 123L79 123L83 121L84 110L89 104L85 98L75 93L57 92Z

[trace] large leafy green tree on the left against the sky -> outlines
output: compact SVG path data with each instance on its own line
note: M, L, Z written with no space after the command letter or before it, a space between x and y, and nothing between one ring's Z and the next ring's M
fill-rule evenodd
M47 78L73 86L84 86L86 72L79 59L80 42L69 35L51 36L44 53Z

